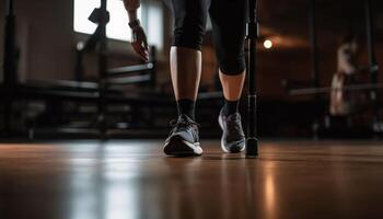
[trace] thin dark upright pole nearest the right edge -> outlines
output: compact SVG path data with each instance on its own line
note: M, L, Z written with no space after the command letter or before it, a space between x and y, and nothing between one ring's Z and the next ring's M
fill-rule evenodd
M376 56L375 56L375 49L374 49L374 30L373 30L373 14L371 9L371 0L365 0L365 31L367 31L367 47L368 47L368 55L369 55L369 65L378 66ZM378 83L378 69L373 68L371 69L371 83L376 84ZM378 91L376 89L371 91L371 99L373 100L373 113L374 118L373 123L379 123L379 100L378 100Z

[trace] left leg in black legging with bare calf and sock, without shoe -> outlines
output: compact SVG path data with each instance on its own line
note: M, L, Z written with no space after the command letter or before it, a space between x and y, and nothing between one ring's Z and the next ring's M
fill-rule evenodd
M172 1L174 36L171 74L178 116L195 119L194 108L201 74L201 44L208 13L207 0Z

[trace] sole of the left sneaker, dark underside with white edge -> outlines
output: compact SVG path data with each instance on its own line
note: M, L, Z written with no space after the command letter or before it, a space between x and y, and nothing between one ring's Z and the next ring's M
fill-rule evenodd
M202 154L202 148L199 142L190 143L179 136L174 136L165 142L163 152L173 157L196 157Z

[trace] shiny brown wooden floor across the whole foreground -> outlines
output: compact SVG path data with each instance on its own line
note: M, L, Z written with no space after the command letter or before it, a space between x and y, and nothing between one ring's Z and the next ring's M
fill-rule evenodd
M166 158L162 140L0 145L1 219L383 218L383 142L265 141Z

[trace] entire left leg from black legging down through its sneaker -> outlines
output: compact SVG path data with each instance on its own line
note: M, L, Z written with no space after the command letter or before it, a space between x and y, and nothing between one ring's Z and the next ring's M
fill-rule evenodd
M208 0L172 1L174 37L171 48L171 76L177 102L178 119L165 141L169 155L199 155L195 102L201 74L201 44L208 13Z

